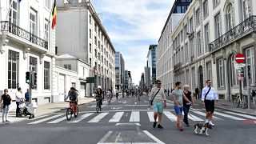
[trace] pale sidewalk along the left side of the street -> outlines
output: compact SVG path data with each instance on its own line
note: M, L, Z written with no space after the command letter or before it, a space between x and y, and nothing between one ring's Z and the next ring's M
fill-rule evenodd
M78 100L78 106L81 106L83 104L89 103L89 102L94 102L95 99L94 98L80 98ZM58 110L62 110L62 109L66 109L66 107L68 106L68 102L55 102L55 103L47 103L44 105L39 105L37 110L34 113L34 118L38 118L41 116L44 116L46 114L53 114L54 112L58 111ZM29 119L29 116L22 116L22 118L17 118L16 114L15 114L15 110L10 111L9 113L9 120L10 122L20 122L23 120L27 120ZM2 123L2 111L1 111L1 115L0 115L0 125L4 124Z

